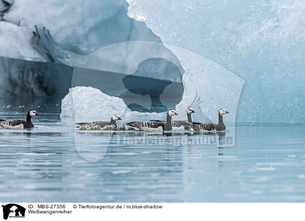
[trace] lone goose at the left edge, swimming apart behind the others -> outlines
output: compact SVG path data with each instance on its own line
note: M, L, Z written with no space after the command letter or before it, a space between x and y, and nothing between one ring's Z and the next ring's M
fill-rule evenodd
M26 121L23 120L0 120L0 127L5 129L24 129L24 128L32 128L34 127L31 118L33 116L39 116L35 110L29 110L26 115Z

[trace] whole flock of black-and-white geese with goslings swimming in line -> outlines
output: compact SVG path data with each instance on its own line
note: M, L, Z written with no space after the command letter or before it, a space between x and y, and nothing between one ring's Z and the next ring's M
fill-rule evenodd
M220 109L218 111L219 122L213 123L198 123L192 121L192 114L195 111L192 108L188 108L187 116L188 121L173 120L174 115L178 115L174 109L170 109L167 112L166 120L151 120L148 122L132 121L127 123L129 128L125 125L118 127L116 125L117 120L121 120L118 115L114 115L110 121L95 121L90 123L76 123L76 128L79 130L139 130L139 131L170 131L170 130L191 130L200 132L216 132L223 131L226 126L223 122L223 115L229 114L227 110ZM0 120L0 127L5 129L25 129L34 127L31 119L33 116L39 116L35 110L29 110L24 120Z

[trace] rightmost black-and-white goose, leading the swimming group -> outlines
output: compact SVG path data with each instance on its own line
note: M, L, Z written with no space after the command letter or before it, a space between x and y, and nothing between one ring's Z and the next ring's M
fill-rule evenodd
M218 118L219 118L218 124L193 122L191 127L194 130L200 131L200 132L211 132L211 131L225 130L226 126L225 126L225 124L223 122L223 115L224 114L229 114L229 112L227 112L227 110L225 110L225 109L220 109L218 111Z

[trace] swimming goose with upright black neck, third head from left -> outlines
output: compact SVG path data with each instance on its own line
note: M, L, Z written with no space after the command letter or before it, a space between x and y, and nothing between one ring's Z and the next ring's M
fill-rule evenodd
M166 115L166 121L149 121L149 122L129 122L128 126L135 127L140 131L168 131L172 130L171 118L178 115L174 109L170 109Z

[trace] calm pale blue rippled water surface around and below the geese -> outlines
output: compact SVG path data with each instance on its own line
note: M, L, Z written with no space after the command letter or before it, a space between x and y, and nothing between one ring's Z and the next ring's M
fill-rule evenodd
M223 134L76 131L58 105L34 109L49 113L35 128L0 129L0 201L305 202L304 124L237 124L230 147L215 145Z

